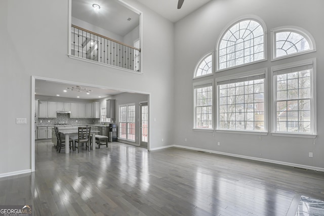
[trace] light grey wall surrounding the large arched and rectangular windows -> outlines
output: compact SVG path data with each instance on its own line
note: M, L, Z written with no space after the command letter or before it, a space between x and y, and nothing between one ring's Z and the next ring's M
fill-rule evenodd
M218 151L225 154L236 154L244 157L256 157L261 160L274 160L283 163L301 164L324 168L324 30L322 8L324 2L313 0L305 3L302 0L214 0L175 25L175 144L191 148ZM207 52L214 50L216 40L222 29L233 20L244 15L256 15L263 19L268 29L268 47L270 45L270 29L294 25L309 31L315 38L317 51L304 56L292 57L275 62L268 61L226 70L208 78L216 78L227 74L235 74L273 65L294 62L301 59L317 58L317 131L318 137L313 139L267 136L208 133L193 131L193 70L198 60ZM270 84L268 88L270 99ZM270 100L269 132L270 132ZM187 142L185 142L187 138ZM217 146L217 142L221 145ZM309 158L308 152L314 152Z

